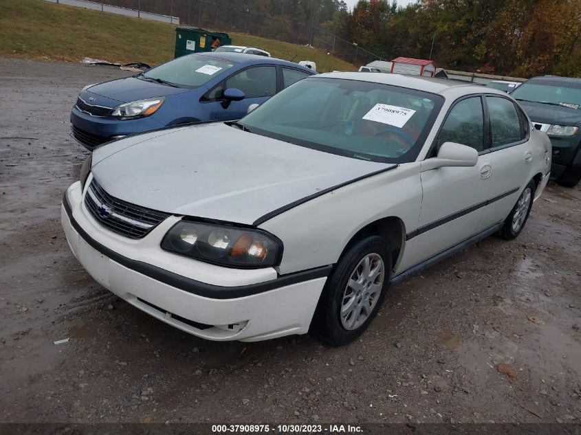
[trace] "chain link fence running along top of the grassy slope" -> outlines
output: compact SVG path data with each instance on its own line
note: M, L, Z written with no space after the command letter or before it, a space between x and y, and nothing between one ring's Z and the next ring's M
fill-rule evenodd
M98 0L96 2L99 3ZM385 60L322 27L267 16L250 8L237 9L208 0L101 0L101 3L152 14L177 16L179 25L239 32L297 45L310 45L355 66L365 65L373 60Z

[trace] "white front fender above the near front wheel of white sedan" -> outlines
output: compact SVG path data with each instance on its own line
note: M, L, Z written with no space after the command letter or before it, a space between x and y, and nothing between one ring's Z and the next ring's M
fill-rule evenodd
M402 164L301 203L259 227L283 241L278 272L288 274L337 263L355 234L385 217L395 216L406 231L415 230L421 195L419 162Z

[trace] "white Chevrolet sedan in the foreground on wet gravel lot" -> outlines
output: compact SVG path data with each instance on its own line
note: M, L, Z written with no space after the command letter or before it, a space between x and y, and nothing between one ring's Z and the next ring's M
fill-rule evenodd
M340 345L390 284L518 236L550 168L547 135L506 93L323 74L240 122L97 148L62 222L96 281L183 331Z

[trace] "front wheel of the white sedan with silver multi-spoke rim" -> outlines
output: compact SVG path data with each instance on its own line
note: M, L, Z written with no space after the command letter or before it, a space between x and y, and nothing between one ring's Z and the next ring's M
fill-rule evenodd
M382 271L374 276L377 268ZM356 287L348 286L352 276L358 278L353 280ZM384 238L367 236L351 245L327 279L314 315L314 333L331 346L357 339L377 315L390 278L391 253ZM351 309L341 315L341 308L347 306Z

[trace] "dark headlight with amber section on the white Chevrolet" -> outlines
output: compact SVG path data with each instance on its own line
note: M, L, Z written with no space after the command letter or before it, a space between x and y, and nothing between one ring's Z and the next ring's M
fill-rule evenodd
M179 221L164 236L162 249L215 265L256 269L278 264L283 243L254 228Z

